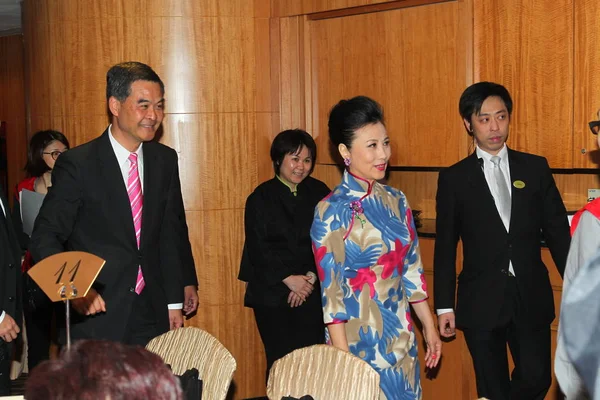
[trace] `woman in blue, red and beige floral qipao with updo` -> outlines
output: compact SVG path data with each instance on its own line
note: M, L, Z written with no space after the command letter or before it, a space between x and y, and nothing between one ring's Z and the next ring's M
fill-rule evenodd
M347 169L317 205L311 238L331 342L379 372L381 399L421 399L409 303L423 324L427 367L437 366L442 344L406 197L377 182L390 158L383 111L367 97L342 100L329 135Z

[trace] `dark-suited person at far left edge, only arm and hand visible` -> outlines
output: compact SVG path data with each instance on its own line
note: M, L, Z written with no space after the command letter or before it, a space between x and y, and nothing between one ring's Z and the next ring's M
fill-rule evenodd
M21 323L21 249L1 186L0 212L0 396L8 396L11 342Z

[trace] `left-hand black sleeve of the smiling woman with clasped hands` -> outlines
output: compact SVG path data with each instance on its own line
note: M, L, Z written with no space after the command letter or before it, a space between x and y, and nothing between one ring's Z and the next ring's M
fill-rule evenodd
M246 200L244 251L248 257L247 261L253 267L252 276L267 286L273 286L293 275L293 269L267 243L267 231L263 217L265 206L261 203L256 193L251 194Z

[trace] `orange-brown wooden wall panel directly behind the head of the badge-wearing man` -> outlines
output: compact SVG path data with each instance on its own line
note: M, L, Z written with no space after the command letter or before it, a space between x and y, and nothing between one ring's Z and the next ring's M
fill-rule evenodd
M547 157L553 168L572 168L573 0L474 6L475 81L502 83L511 92L509 145Z

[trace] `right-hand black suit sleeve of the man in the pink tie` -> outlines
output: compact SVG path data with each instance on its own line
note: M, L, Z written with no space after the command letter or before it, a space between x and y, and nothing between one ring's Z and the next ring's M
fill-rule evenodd
M173 162L167 204L160 230L160 268L167 303L183 303L183 286L197 285L196 268L187 234L179 168ZM193 272L192 272L193 271Z

